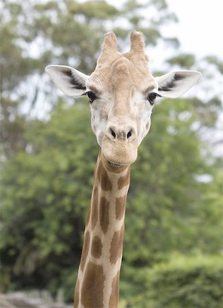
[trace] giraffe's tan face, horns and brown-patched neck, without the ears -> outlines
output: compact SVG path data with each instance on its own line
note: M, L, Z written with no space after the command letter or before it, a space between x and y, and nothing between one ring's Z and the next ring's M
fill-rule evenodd
M105 34L101 56L87 83L98 97L103 93L107 97L101 105L92 104L92 129L98 134L101 151L75 291L78 308L118 307L129 166L137 157L139 135L143 134L137 112L146 104L138 105L132 99L142 92L146 95L148 87L153 89L155 81L148 70L142 34L131 34L131 50L124 54L117 49L114 33ZM102 123L107 123L104 133Z

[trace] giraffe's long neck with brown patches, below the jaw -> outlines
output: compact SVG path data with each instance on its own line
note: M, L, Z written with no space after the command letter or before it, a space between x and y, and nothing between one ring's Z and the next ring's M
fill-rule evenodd
M99 153L75 287L75 308L118 307L129 183L130 167L112 171Z

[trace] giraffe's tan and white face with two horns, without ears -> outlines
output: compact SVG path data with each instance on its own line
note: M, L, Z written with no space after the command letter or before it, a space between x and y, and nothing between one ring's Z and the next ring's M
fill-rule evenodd
M92 129L103 154L114 164L132 164L137 158L137 146L150 127L148 121L152 107L146 96L157 86L148 69L142 34L137 31L131 34L131 50L128 53L117 50L113 33L106 34L101 56L86 86L101 99L100 105L93 103L91 107ZM144 123L142 114L145 116ZM99 129L101 125L104 125L103 131ZM131 131L131 138L122 142L112 138L111 127L126 131L126 134Z

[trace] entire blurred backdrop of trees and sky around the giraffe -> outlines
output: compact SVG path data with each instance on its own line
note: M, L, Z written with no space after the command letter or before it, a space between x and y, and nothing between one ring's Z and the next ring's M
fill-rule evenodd
M125 52L137 29L154 76L192 69L202 80L157 102L131 168L120 307L220 308L221 1L116 2L0 1L0 292L73 301L99 146L88 99L65 97L44 67L90 74L106 31Z

